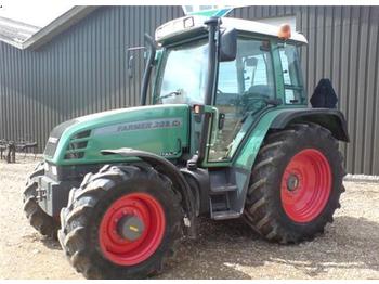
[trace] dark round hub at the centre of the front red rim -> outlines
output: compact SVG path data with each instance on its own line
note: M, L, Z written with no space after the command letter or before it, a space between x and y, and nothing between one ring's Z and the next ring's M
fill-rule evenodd
M143 221L133 215L128 215L121 218L117 224L117 232L122 238L134 242L141 237L145 230Z

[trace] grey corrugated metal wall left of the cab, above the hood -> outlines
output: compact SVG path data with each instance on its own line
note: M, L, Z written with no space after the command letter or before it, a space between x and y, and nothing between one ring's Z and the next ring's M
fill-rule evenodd
M129 79L127 48L183 16L181 7L105 7L37 51L0 42L0 139L37 140L76 116L139 103L143 52Z

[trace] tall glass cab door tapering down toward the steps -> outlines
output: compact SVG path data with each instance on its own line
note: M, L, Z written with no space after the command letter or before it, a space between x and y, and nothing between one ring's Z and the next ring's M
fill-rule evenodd
M208 166L227 165L257 115L275 98L270 41L238 38L237 56L219 65Z

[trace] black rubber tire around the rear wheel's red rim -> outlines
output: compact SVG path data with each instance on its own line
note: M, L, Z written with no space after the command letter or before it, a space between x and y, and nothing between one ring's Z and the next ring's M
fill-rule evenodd
M283 163L283 157L293 143L303 141L308 135L322 138L327 141L331 152L338 157L339 189L334 199L328 204L327 216L321 221L321 225L313 228L312 232L299 233L278 220L277 208L273 205L273 196L277 190L277 168ZM342 155L338 150L338 142L332 138L329 130L316 124L293 124L287 129L269 133L265 138L251 171L250 185L247 193L247 203L244 210L244 220L261 236L271 242L282 244L299 243L313 240L317 234L324 232L327 222L332 222L332 214L340 208L339 197L344 191L342 178L345 175L342 167ZM336 178L336 177L335 177Z

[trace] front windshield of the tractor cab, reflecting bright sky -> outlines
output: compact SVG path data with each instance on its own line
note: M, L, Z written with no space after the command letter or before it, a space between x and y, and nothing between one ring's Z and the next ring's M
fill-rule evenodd
M168 49L160 66L155 104L204 103L207 62L206 40Z

